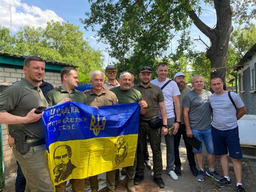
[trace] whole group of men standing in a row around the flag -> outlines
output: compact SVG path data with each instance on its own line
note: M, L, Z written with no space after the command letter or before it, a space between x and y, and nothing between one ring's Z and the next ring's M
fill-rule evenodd
M246 113L246 109L239 95L223 90L223 82L220 78L211 79L210 86L215 91L211 94L210 91L203 89L202 76L196 75L192 78L193 90L186 87L185 75L181 72L178 72L173 80L168 79L166 63L159 63L156 71L158 78L154 80L151 80L151 67L142 67L139 73L140 82L136 85L133 82L132 71L121 72L117 81L116 67L108 66L105 74L101 71L91 73L90 82L93 89L84 94L75 90L79 82L76 69L65 67L60 74L62 86L50 90L44 97L42 90L38 87L38 83L44 76L44 61L36 56L27 57L23 69L25 78L7 87L0 95L0 123L9 125L10 135L15 131L26 132L26 142L31 143L27 153L21 153L16 148L20 142L18 139L15 139L13 144L14 156L27 181L26 191L52 192L54 188L50 180L46 157L42 113L36 114L34 111L38 106L52 106L66 101L76 101L94 108L118 103L139 103L141 109L135 159L132 166L126 167L129 192L135 192L135 185L139 185L144 180L146 136L153 153L154 166L151 174L154 177L153 181L159 188L165 187L161 178L163 170L162 135L165 136L166 144L166 172L173 180L181 176L178 148L182 135L190 170L196 176L197 181L203 181L207 174L218 181L219 187L231 184L228 172L228 149L229 156L234 163L237 191L244 191L241 181L242 167L239 159L242 158L242 153L237 120ZM108 76L108 81L104 83L105 75ZM236 107L232 103L235 103ZM196 150L185 139L186 137L192 138L192 136L200 141L204 140L208 159L206 173L203 169L202 144L200 149ZM220 155L223 178L214 169L215 155ZM199 171L196 168L195 157ZM118 185L119 170L107 172L106 179L108 191L114 192ZM71 182L72 192L84 191L84 179L72 179ZM92 192L98 191L97 175L90 177L90 184ZM64 192L65 185L65 182L56 185L56 191Z

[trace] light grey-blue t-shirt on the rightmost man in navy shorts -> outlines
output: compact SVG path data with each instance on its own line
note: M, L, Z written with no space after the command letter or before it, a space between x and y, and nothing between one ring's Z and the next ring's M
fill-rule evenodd
M234 100L237 108L244 106L240 95L230 92L230 96ZM237 111L229 99L229 95L223 93L216 95L215 93L209 97L212 108L212 126L219 130L229 130L237 127Z

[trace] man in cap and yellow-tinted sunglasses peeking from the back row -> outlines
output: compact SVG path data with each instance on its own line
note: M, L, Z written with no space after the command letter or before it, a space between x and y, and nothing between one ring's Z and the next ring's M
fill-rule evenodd
M111 88L120 86L116 80L116 72L116 66L108 65L106 67L105 75L108 77L108 80L103 85L104 89L110 90Z

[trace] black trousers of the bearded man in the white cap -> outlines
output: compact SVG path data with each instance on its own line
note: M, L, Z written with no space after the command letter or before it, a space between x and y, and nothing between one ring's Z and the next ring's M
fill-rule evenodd
M174 156L175 156L175 161L174 161L174 165L177 166L181 166L181 161L180 161L180 152L179 152L179 146L180 146L180 139L181 139L181 135L184 138L186 135L186 126L185 124L180 124L180 127L178 128L178 132L176 135L174 135ZM195 154L193 153L193 147L187 143L184 140L186 149L187 149L187 158L188 158L188 163L189 166L196 166L196 162L195 162Z

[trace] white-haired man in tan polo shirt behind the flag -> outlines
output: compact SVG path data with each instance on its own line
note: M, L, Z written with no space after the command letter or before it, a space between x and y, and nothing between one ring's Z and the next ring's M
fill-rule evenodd
M91 73L91 84L93 85L93 89L86 93L86 97L88 100L88 104L90 106L106 106L106 105L116 105L117 97L116 95L109 90L103 88L105 75L102 71L93 71ZM107 192L115 191L115 170L106 172L107 179ZM97 192L99 189L98 176L90 177L91 184L91 192Z

